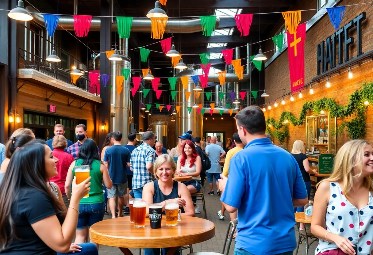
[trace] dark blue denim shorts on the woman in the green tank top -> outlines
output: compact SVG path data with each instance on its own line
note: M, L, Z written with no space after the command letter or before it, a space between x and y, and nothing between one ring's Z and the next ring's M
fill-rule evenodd
M104 202L98 204L79 205L78 226L76 229L85 229L98 221L103 220L105 213Z

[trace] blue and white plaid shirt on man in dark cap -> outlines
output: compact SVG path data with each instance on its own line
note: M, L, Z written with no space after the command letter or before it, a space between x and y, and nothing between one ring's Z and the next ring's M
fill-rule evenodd
M146 142L143 142L139 147L135 148L131 153L131 167L134 173L132 177L132 188L140 189L148 182L154 180L146 168L146 163L154 163L156 151Z

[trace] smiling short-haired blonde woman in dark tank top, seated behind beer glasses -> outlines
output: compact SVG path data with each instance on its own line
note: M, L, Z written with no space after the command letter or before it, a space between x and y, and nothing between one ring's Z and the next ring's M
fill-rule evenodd
M149 205L157 203L162 205L163 214L166 214L167 207L171 209L168 212L177 213L178 209L181 208L182 216L194 216L194 207L192 198L188 188L183 183L177 182L172 179L176 171L176 164L173 158L168 154L160 155L154 162L154 177L156 180L147 183L142 191L142 199L147 203L147 211ZM135 202L136 204L137 202ZM134 204L134 206L135 206ZM176 207L175 207L176 204ZM153 206L153 205L152 205ZM174 208L175 207L175 208ZM175 210L174 210L175 209ZM135 215L136 216L136 215ZM177 214L166 215L170 216L166 224L175 226L177 225ZM176 219L175 219L176 217ZM136 221L136 219L135 219ZM176 221L176 222L175 222ZM171 223L171 224L168 224ZM135 223L136 224L136 223ZM163 248L162 253L167 254L169 248ZM160 249L144 249L145 255L159 255ZM180 254L180 251L175 253Z

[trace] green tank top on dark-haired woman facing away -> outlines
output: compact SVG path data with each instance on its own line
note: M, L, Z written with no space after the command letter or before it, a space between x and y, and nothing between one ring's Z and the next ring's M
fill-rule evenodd
M83 163L82 159L75 160L75 166L81 166ZM102 173L101 173L101 162L94 160L91 164L90 176L91 186L88 198L82 198L79 202L81 205L86 204L98 204L104 202L104 193L102 191ZM75 176L75 167L72 169L72 174Z

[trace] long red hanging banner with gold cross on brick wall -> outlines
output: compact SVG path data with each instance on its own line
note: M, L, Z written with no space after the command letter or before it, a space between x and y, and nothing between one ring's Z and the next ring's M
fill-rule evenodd
M288 37L288 55L291 92L304 86L304 41L305 23L298 25L294 34L286 32Z

